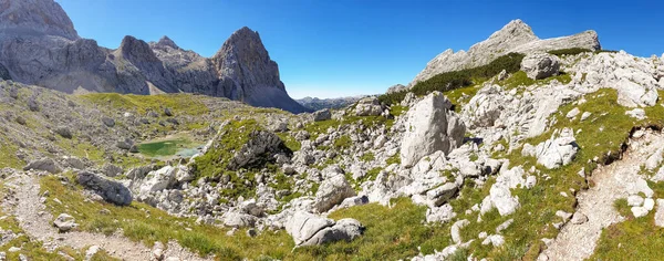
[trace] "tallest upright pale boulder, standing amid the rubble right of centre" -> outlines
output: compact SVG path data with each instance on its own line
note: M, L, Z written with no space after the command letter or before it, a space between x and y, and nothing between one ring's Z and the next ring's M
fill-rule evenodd
M400 155L403 166L413 166L437 150L449 154L463 144L466 125L450 107L449 100L434 92L408 111Z

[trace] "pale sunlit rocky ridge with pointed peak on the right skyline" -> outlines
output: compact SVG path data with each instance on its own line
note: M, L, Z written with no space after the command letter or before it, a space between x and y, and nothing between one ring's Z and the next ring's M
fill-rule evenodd
M455 53L452 49L448 49L438 54L428 62L426 67L415 76L408 86L412 87L417 82L425 81L436 74L485 65L494 59L511 52L529 54L569 48L599 50L601 45L594 31L541 40L535 35L528 24L517 19L491 34L487 40L473 45L468 49L468 52L458 51Z

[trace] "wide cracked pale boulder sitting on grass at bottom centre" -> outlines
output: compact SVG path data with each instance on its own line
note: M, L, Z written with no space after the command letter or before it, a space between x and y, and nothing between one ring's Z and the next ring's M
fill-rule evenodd
M354 219L332 219L297 211L286 223L286 231L293 237L295 246L319 246L340 240L351 241L362 234L364 228Z

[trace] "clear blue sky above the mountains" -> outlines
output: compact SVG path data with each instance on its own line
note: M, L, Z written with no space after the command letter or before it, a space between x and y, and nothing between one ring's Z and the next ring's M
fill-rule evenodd
M512 19L540 38L598 31L604 49L664 52L664 3L427 0L56 0L79 34L115 49L168 35L214 55L237 29L258 31L293 97L382 93L436 54L467 50Z

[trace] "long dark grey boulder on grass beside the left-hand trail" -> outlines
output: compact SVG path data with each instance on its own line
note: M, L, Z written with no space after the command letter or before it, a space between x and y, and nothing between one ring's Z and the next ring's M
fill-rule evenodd
M85 189L94 191L111 203L117 206L128 206L132 203L132 192L121 182L89 171L80 171L76 175L76 181Z

